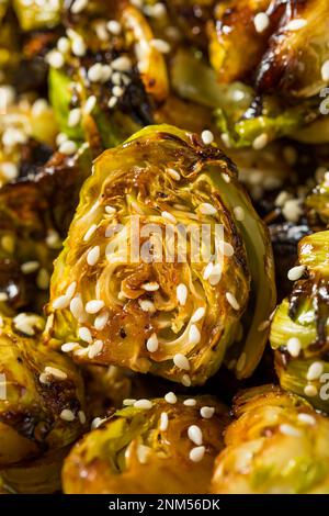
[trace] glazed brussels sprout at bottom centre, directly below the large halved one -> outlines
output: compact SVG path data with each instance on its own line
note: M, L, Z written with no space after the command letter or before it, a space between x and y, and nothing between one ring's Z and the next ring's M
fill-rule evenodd
M206 493L227 410L212 396L171 395L115 412L78 442L65 461L65 493Z

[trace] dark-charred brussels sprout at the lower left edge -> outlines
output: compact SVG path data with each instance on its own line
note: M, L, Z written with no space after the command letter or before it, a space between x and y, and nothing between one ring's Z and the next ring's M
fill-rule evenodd
M83 430L83 386L68 359L39 341L44 319L1 317L0 468L60 449Z

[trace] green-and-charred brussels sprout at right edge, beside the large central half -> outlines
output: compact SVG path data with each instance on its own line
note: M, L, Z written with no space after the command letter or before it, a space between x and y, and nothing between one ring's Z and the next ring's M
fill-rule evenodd
M298 255L288 273L296 282L275 312L270 340L282 388L329 412L329 232L303 238Z

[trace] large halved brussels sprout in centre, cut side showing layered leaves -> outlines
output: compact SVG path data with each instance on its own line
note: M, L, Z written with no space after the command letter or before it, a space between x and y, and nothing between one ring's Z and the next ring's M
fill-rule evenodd
M224 359L252 373L274 305L269 236L230 160L151 126L101 155L82 187L45 338L81 362L202 384Z

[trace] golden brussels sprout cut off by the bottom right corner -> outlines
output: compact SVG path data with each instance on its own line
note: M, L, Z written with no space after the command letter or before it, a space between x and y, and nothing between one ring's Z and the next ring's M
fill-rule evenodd
M276 386L240 394L215 462L218 494L329 493L329 419Z

